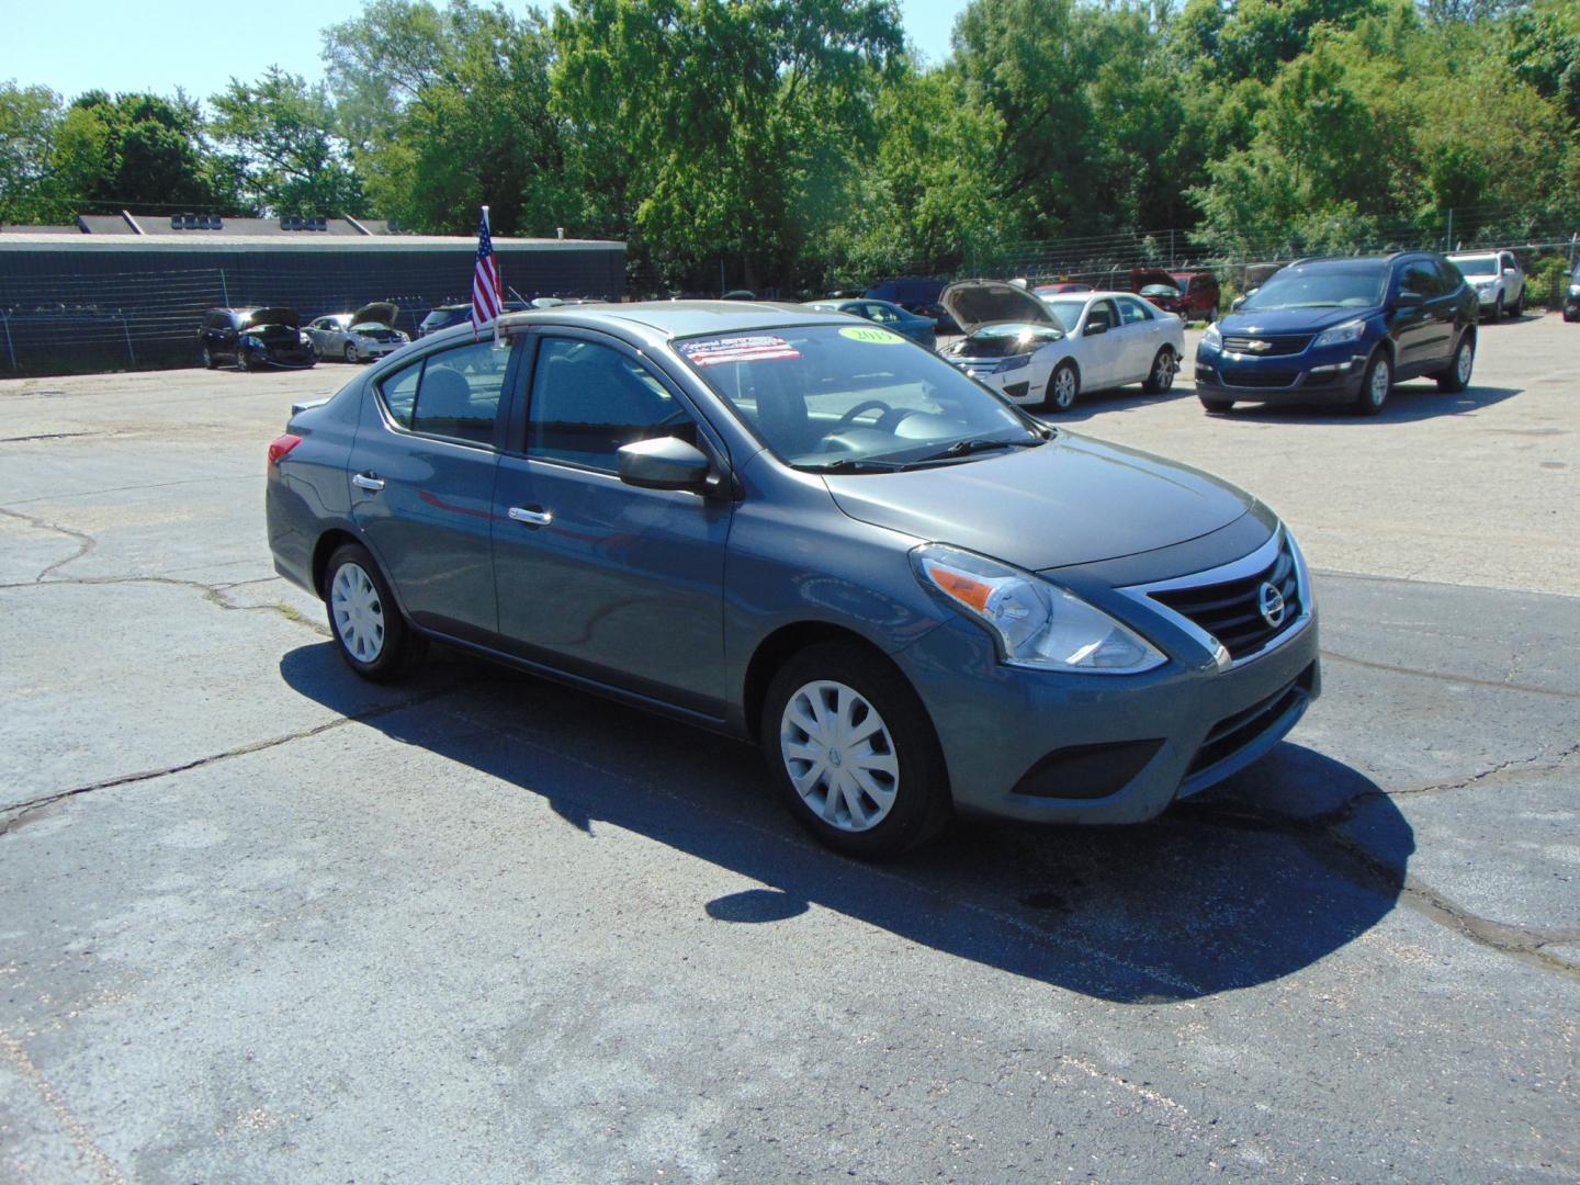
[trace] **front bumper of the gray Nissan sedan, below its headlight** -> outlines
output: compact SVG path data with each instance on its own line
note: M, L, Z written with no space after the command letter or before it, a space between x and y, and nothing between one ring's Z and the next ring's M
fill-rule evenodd
M927 706L959 811L1139 823L1262 757L1321 694L1315 610L1240 662L1193 641L1164 649L1169 662L1134 676L1030 672L957 619L893 657Z

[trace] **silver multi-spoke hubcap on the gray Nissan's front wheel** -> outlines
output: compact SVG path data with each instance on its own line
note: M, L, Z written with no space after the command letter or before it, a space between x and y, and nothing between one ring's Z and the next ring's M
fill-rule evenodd
M779 752L801 801L841 831L867 831L899 792L899 757L888 725L842 683L807 683L785 705Z

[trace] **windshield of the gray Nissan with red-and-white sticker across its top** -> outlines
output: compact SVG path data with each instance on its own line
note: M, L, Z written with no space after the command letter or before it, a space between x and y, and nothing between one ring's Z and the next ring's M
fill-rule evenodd
M1048 439L932 351L875 325L785 325L683 338L675 349L801 469L877 472Z

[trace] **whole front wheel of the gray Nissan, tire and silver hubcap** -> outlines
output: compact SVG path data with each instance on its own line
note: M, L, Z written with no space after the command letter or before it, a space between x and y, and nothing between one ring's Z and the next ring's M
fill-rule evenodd
M837 852L897 856L950 818L926 708L897 670L855 646L811 646L774 675L762 741L790 814Z

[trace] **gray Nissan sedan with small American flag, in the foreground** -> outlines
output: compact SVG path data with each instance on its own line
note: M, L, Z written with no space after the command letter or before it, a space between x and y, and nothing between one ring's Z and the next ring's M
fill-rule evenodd
M762 744L818 839L1152 818L1319 689L1250 495L1049 428L877 325L754 303L509 314L299 408L275 567L368 679L430 638Z

